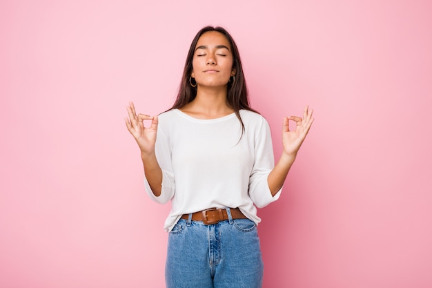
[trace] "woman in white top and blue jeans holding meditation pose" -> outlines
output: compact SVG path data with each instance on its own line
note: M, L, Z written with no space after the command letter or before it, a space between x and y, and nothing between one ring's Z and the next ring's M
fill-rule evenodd
M284 151L274 165L270 128L249 106L237 46L219 27L193 39L170 110L158 117L137 115L132 102L127 109L146 191L172 204L166 287L262 287L256 207L279 198L313 111L284 118Z

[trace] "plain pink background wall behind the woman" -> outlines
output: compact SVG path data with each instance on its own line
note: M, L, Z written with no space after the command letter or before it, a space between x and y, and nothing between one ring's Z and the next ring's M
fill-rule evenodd
M276 156L282 117L315 109L259 211L264 287L432 287L431 3L1 1L0 287L164 287L169 205L124 116L173 103L207 24L237 41Z

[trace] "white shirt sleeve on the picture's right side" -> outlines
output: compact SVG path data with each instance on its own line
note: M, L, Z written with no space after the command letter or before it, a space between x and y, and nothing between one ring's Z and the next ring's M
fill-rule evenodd
M268 174L275 166L271 131L264 117L255 131L255 159L251 177L249 177L249 196L258 208L266 207L279 199L282 188L272 196L268 187Z

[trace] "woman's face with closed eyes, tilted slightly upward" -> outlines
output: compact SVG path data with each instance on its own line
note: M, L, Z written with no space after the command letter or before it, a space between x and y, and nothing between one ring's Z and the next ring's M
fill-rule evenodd
M217 31L199 37L192 60L192 73L199 86L226 86L233 70L233 53L226 37Z

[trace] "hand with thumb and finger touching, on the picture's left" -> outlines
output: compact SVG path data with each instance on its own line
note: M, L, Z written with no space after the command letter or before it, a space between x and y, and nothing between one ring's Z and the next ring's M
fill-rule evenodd
M126 127L128 131L137 141L141 154L150 155L155 153L156 132L157 132L157 116L149 116L138 114L135 112L135 106L129 102L128 109L129 117L125 117ZM152 120L149 127L144 126L144 120Z

